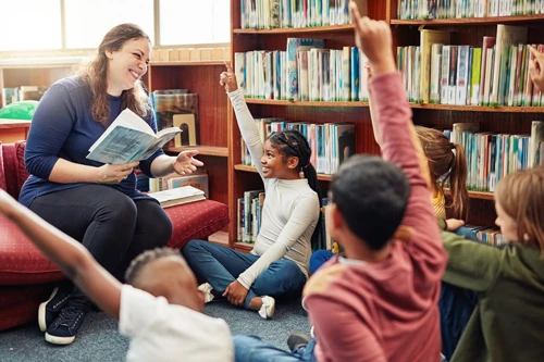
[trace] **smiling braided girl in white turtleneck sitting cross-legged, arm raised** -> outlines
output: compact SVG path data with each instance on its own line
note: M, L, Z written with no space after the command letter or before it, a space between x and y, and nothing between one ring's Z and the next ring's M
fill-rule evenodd
M207 300L224 296L234 305L272 317L276 298L300 297L308 278L311 245L320 229L321 196L308 140L297 130L275 132L263 142L237 88L230 64L220 75L242 136L267 195L261 227L249 254L202 240L182 250L205 284ZM300 175L304 174L304 177Z

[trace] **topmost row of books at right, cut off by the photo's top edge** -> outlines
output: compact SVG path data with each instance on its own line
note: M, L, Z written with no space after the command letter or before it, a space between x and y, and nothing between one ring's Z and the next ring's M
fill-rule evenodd
M453 18L543 14L543 0L399 0L397 17Z

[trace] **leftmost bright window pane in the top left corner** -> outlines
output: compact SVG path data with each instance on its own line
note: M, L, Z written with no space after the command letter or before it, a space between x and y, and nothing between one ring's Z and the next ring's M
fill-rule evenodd
M0 0L1 50L62 48L59 0Z

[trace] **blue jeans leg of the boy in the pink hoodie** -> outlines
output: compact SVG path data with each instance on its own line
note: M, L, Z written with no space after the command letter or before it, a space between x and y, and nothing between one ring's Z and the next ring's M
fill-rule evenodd
M317 361L316 355L313 354L316 338L311 339L306 348L297 349L293 352L285 351L271 344L267 344L257 336L234 336L233 340L235 362Z

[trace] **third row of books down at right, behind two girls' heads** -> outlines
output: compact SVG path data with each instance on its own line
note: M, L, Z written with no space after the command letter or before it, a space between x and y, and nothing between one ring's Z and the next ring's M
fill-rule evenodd
M544 122L533 121L531 135L479 132L478 123L456 123L444 134L462 146L467 157L467 188L494 191L506 175L544 165Z

